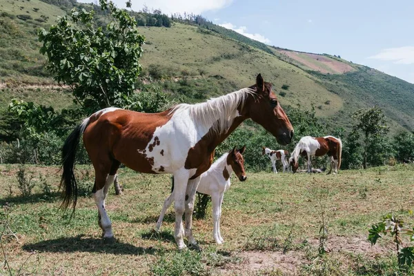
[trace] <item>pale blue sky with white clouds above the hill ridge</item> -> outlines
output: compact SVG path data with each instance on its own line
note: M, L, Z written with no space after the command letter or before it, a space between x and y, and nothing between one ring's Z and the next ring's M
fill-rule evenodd
M144 3L166 14L201 13L269 45L340 55L414 83L413 0L132 0L132 8Z

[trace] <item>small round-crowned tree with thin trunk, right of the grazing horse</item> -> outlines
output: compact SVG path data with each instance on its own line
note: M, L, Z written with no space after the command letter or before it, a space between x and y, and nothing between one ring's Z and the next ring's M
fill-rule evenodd
M353 129L359 130L363 134L364 168L366 168L367 152L371 139L375 136L385 136L389 131L389 127L386 125L384 113L377 106L357 110L352 117L357 120L357 124L355 124Z

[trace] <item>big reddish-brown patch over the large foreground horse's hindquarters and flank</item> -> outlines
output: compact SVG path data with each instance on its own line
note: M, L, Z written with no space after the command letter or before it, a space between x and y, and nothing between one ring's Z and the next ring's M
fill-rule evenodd
M90 117L90 124L83 132L83 144L95 167L97 190L105 185L106 175L115 160L132 170L157 173L152 170L154 158L148 158L145 149L155 129L170 120L169 112L151 114L115 110L100 117Z

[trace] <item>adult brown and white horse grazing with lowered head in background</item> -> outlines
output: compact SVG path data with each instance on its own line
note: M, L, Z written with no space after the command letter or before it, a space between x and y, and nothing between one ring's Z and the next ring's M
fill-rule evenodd
M328 155L331 157L331 168L328 174L332 172L332 168L334 168L333 172L337 173L341 167L342 141L341 139L335 138L333 136L302 137L295 146L292 155L290 155L289 164L292 166L293 172L296 172L297 168L299 167L299 164L297 163L299 155L307 158L308 172L312 172L311 156L319 157Z

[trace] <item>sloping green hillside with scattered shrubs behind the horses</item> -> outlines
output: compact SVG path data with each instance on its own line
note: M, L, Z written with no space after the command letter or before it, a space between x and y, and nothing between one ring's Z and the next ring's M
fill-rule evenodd
M53 84L43 69L36 30L47 28L69 8L39 0L0 0L0 110L12 97L43 104L48 103L44 99L53 99L58 108L72 104L68 93L59 92L65 95L61 97L49 89L37 97L24 88ZM30 18L22 19L22 14ZM139 30L147 41L141 59L144 81L157 81L164 90L182 94L188 101L250 86L261 72L274 84L284 106L314 106L324 121L346 127L351 123L350 112L376 104L394 129L414 130L414 85L377 70L329 55L266 46L206 21ZM15 89L15 83L21 87ZM188 92L191 89L197 92Z

